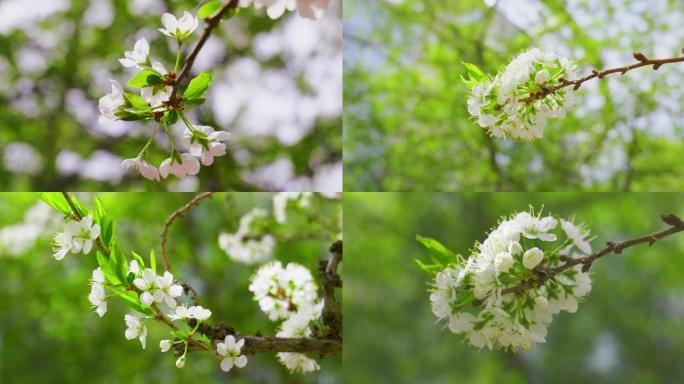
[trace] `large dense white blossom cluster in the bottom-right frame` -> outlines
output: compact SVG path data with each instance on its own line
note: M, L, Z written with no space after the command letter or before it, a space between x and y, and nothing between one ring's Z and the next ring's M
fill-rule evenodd
M563 260L591 253L586 227L558 223L533 211L504 218L470 257L458 256L436 273L430 294L435 316L477 348L529 349L544 342L553 315L575 313L591 290L581 265L552 271ZM537 281L542 283L529 284ZM522 293L510 291L525 284Z

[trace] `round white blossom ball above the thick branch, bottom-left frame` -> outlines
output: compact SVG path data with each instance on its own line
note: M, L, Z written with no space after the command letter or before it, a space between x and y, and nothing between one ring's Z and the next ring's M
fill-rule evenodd
M287 319L318 299L311 272L297 263L289 263L285 268L279 261L265 264L251 280L249 290L272 321Z

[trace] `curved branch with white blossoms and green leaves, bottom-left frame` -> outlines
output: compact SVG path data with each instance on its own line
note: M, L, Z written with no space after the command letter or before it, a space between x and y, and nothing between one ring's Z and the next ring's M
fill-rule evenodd
M194 197L169 217L162 234L164 244L173 221L210 195L204 193ZM309 198L310 194L306 199L303 194L276 195L277 222L285 223L288 208L308 207ZM188 353L192 351L208 352L220 360L224 371L246 366L247 355L268 352L277 353L278 359L291 372L305 373L320 369L318 363L305 354L341 353L341 309L334 292L334 287L342 285L336 272L342 259L341 242L331 247L332 256L326 262L328 268L321 275L323 300L319 299L317 285L306 267L297 263L283 267L280 262L271 262L259 268L251 279L249 290L271 320L284 321L275 336L243 336L234 327L223 323L212 326L207 322L212 312L200 305L200 297L192 287L174 280L168 260L164 262L163 275L156 273L153 251L150 252L149 268L145 268L145 261L135 252L130 252L133 260L129 261L115 240L114 222L98 199L95 199L96 209L92 214L69 193L44 194L43 200L64 213L67 220L64 232L55 236L54 257L57 260L62 260L68 253L88 254L93 245L97 248L99 267L93 271L88 296L96 313L100 317L105 315L108 298L122 299L135 311L124 318L125 336L129 340L139 339L143 348L147 343L146 322L154 320L168 326L172 338L161 340L159 347L162 352L174 350L178 368L184 367ZM249 226L245 228L249 229ZM329 289L333 291L329 292ZM183 303L184 292L194 305Z

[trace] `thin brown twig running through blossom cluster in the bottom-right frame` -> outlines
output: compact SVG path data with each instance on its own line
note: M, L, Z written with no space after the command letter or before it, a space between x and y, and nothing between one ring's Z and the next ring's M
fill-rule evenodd
M541 286L547 280L553 279L559 273L565 271L568 268L574 267L575 265L582 264L582 271L587 272L591 268L594 261L596 261L596 259L603 257L607 254L620 254L626 248L642 243L648 243L648 245L651 246L659 239L684 231L684 221L682 221L679 217L671 213L663 214L660 217L665 224L670 226L670 228L630 240L609 241L606 243L606 246L603 249L585 257L573 259L561 255L561 260L564 261L565 264L562 264L555 268L540 268L538 271L536 271L537 276L534 279L525 280L520 285L506 288L501 292L501 294L524 294L528 289L533 289Z

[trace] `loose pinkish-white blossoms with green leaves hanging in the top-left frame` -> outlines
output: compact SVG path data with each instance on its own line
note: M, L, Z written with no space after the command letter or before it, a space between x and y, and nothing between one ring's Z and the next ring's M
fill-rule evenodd
M225 142L230 134L225 131L215 131L212 127L194 125L184 114L188 106L199 105L204 102L204 93L211 83L211 75L201 73L190 81L182 94L174 94L177 72L180 69L183 43L193 34L199 25L199 19L189 12L181 18L165 13L162 16L164 28L159 31L175 39L178 43L176 66L172 71L150 55L150 44L145 38L135 43L132 51L124 53L119 59L126 68L136 68L137 74L129 80L128 86L139 89L139 93L128 93L116 80L110 80L112 91L99 101L101 116L100 124L111 123L116 120L136 121L152 119L157 128L147 144L138 155L125 159L121 166L125 169L136 169L150 180L167 178L170 174L184 178L196 175L200 171L200 164L209 166L215 157L226 154ZM186 125L183 136L179 140L180 148L176 146L175 138L171 135L169 126L178 119ZM163 127L171 146L170 156L163 160L159 167L150 164L146 158L150 145L157 132Z

